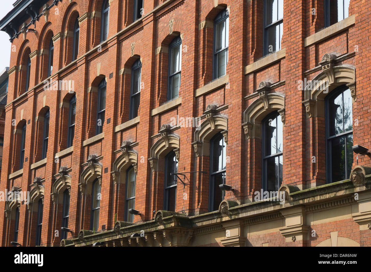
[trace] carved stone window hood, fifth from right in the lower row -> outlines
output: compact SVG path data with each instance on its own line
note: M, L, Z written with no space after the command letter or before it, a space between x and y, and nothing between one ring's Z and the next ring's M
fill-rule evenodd
M121 155L114 161L112 166L112 179L115 184L124 183L125 181L120 179L120 173L126 171L130 166L134 167L134 172L138 170L138 153L132 150L131 141L123 141L121 144Z

